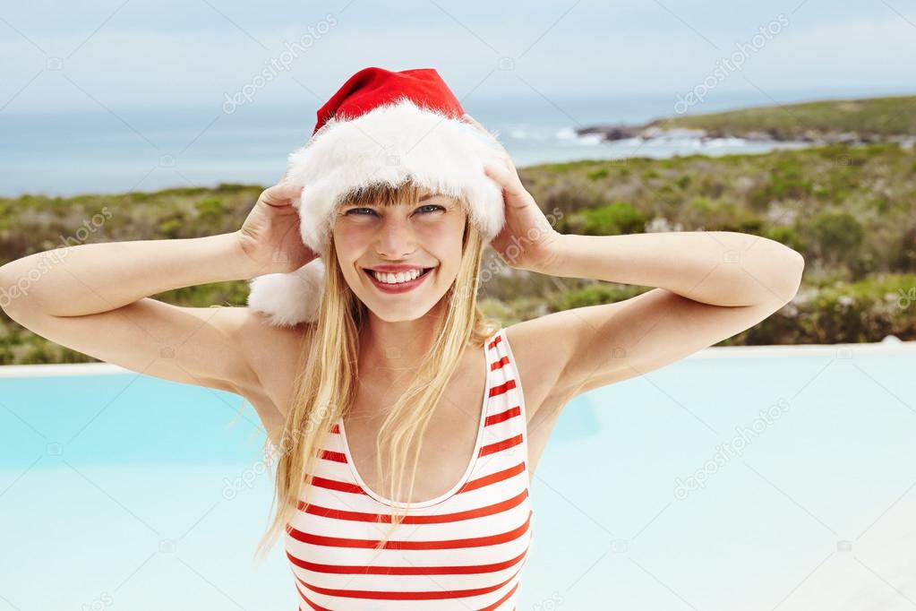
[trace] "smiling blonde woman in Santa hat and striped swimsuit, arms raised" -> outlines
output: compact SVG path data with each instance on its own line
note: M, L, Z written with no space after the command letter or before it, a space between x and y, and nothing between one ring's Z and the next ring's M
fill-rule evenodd
M335 94L338 110L366 83L443 87L434 71L367 70ZM333 125L325 117L322 137ZM332 169L303 180L308 164L291 159L238 231L71 247L4 308L101 360L250 400L278 456L262 550L284 530L300 608L514 608L529 483L563 407L762 321L802 276L802 256L754 235L561 235L505 151L475 166L498 211L481 208L485 195L393 178L310 208ZM507 267L656 288L500 327L475 301L486 244ZM39 255L0 268L5 294ZM398 266L412 271L389 273ZM252 278L247 308L148 297Z

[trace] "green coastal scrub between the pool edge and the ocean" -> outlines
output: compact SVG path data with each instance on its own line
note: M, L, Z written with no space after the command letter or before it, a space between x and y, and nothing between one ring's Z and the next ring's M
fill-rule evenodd
M628 158L519 170L562 233L616 235L723 230L763 235L805 256L796 300L726 344L916 340L916 151L895 143L831 145L765 155ZM234 231L259 185L128 195L0 199L0 264L67 240L105 242ZM93 219L103 220L97 225ZM80 228L84 228L80 231ZM633 287L507 270L480 291L482 309L507 324L551 311L610 303ZM157 295L180 305L244 305L245 282ZM88 362L0 313L0 364Z

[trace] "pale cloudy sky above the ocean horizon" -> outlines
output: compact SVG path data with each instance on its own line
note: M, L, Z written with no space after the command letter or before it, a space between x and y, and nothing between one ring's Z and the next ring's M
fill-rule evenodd
M903 0L303 4L5 5L0 114L215 107L233 96L314 105L367 66L435 68L463 102L675 99L703 82L778 102L798 91L911 93L916 82L916 5ZM740 70L723 68L736 53Z

